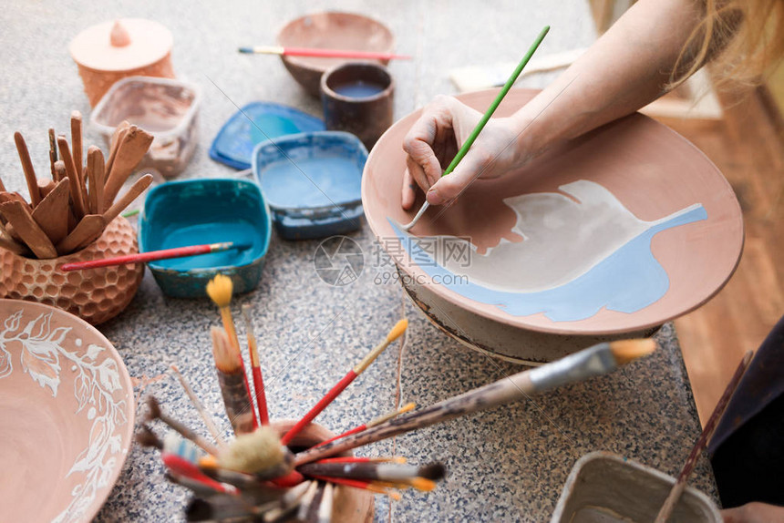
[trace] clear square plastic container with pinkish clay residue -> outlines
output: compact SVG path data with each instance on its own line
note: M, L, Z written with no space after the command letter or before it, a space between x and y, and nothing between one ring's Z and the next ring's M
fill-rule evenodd
M156 169L170 178L185 169L199 139L199 87L170 78L127 77L101 98L90 124L107 143L123 121L143 128L153 137L138 169Z

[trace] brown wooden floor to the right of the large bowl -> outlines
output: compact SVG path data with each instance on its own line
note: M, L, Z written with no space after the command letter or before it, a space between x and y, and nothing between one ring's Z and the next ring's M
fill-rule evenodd
M713 300L676 321L703 424L742 354L784 315L784 126L765 91L720 98L720 121L657 118L716 163L746 225L738 271Z

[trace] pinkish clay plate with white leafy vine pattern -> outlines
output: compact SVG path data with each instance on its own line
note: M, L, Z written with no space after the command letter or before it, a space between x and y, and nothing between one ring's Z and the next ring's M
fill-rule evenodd
M0 420L0 520L88 521L128 456L128 370L76 316L0 300Z

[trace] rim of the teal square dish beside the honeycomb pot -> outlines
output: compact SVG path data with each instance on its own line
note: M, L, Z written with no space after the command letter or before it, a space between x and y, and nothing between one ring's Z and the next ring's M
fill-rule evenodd
M265 225L263 226L264 231L264 241L262 244L261 253L253 258L250 262L243 263L242 265L220 265L216 267L200 267L197 269L176 269L171 267L161 267L155 261L153 262L146 262L147 265L150 267L150 271L155 272L166 272L166 273L175 273L184 276L192 276L192 275L199 275L199 274L209 274L212 272L221 272L221 271L228 271L228 270L239 270L244 267L250 267L254 263L258 263L263 260L263 258L267 255L267 252L270 248L270 241L273 234L273 224L272 224L272 213L270 212L270 206L267 204L267 201L264 199L264 194L261 188L254 183L253 181L247 179L232 179L232 178L192 178L192 179L177 179L173 181L167 181L166 183L161 183L160 185L156 185L153 187L149 193L147 193L147 197L144 199L144 206L142 206L141 213L139 215L139 252L148 252L146 250L146 235L143 234L144 227L142 224L144 223L145 218L145 210L147 208L148 200L152 197L153 194L158 192L159 190L164 190L162 188L170 187L168 190L176 190L175 186L180 184L191 184L194 182L218 182L218 183L225 183L225 184L236 184L236 185L246 185L248 187L253 187L253 189L259 191L260 201L262 203L262 212L263 216L266 218Z

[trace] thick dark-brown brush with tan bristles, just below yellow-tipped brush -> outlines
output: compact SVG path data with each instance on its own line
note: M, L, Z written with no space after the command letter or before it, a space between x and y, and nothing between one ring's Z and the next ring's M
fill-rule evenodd
M212 327L212 355L218 371L223 405L232 424L234 434L249 434L256 429L253 401L248 394L242 356L239 348L232 344L230 336L220 327Z

